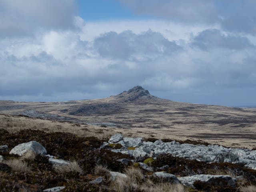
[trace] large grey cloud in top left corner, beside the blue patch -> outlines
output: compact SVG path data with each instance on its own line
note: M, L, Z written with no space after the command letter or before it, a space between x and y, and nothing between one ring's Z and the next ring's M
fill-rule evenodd
M74 0L0 0L0 37L74 28Z

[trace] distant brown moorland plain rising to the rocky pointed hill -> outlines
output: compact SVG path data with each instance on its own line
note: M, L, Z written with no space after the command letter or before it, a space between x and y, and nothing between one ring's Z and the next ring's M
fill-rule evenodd
M0 101L3 114L106 125L161 137L255 147L256 109L174 102L136 86L116 96L67 102Z

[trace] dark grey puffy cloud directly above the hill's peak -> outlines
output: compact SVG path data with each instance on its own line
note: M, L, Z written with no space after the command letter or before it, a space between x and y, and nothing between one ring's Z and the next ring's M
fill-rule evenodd
M141 34L134 34L132 31L124 31L120 34L108 32L94 40L94 48L98 50L100 56L119 59L129 59L138 55L154 57L181 50L175 42L152 30Z

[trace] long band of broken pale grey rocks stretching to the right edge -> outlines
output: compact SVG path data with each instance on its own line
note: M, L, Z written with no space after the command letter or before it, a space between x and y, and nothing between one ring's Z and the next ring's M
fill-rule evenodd
M188 160L198 160L208 163L229 162L244 164L244 166L256 170L256 150L246 148L225 148L220 145L194 145L180 144L179 142L155 142L142 141L142 138L124 138L121 134L116 134L108 142L104 142L102 147L109 144L121 144L122 148L113 149L113 152L129 154L136 160L144 157L156 157L160 154L172 154Z

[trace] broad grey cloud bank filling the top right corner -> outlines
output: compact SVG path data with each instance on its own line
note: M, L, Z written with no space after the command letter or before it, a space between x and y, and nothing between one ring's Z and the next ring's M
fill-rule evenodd
M230 32L256 35L254 0L120 0L137 14L184 24L219 24Z

